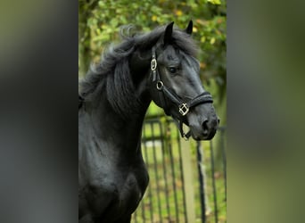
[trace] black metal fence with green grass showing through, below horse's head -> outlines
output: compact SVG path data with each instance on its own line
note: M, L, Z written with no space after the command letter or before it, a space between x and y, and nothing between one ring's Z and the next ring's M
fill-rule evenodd
M171 120L146 120L142 150L150 183L134 223L226 222L226 128L185 141Z

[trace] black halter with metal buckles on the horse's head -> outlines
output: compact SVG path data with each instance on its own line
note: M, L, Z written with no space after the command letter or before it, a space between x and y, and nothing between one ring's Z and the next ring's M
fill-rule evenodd
M177 111L179 115L173 115L173 119L177 122L178 128L180 131L181 136L188 140L191 136L191 131L187 133L183 130L183 120L182 118L190 111L191 108L201 104L201 103L213 103L213 99L209 92L203 92L201 95L194 97L189 101L184 101L180 96L178 96L174 91L170 90L169 87L164 86L159 72L157 70L157 59L155 53L155 46L152 47L152 61L151 61L151 71L152 71L152 83L155 83L156 89L161 93L161 106L163 107L166 114L169 115L168 107L165 101L167 98L170 102L174 103L177 106Z

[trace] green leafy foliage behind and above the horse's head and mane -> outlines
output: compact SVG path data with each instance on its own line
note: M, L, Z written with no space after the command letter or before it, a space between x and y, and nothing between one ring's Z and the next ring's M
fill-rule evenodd
M104 48L118 43L120 26L134 24L140 31L175 21L185 29L194 21L194 39L201 49L201 78L215 88L216 106L226 94L226 0L78 0L78 70L84 77L90 62L100 60ZM208 87L208 90L210 90Z

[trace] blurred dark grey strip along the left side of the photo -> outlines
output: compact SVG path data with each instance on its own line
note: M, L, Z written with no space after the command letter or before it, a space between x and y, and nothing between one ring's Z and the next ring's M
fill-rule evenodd
M0 8L0 222L78 222L78 3Z

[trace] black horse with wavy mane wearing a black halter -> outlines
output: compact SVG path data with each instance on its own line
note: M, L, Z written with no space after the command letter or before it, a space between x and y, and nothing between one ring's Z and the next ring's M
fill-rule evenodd
M141 35L121 29L122 43L80 82L78 222L130 222L149 180L141 132L152 101L183 136L209 140L216 133L218 117L198 75L193 22L185 30L173 24Z

